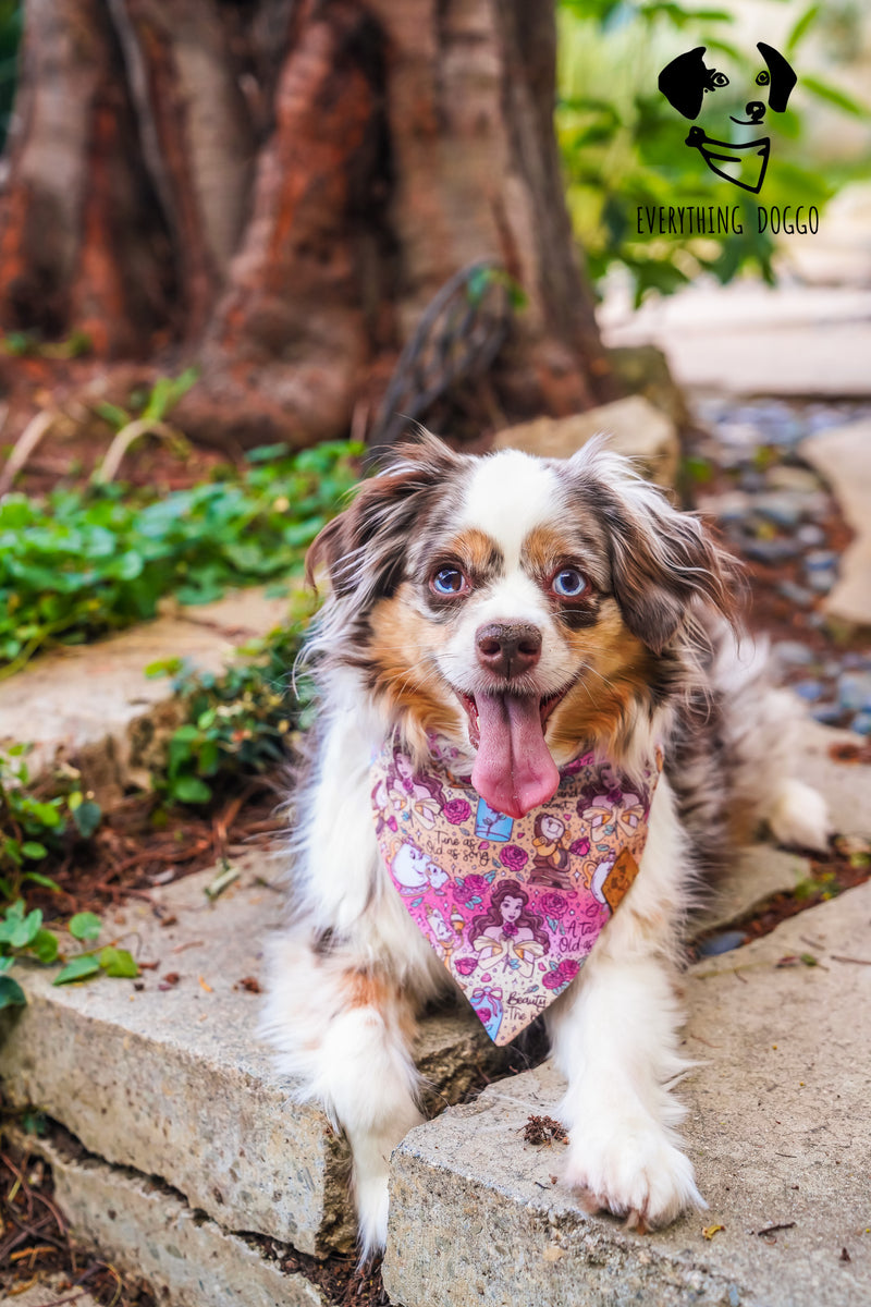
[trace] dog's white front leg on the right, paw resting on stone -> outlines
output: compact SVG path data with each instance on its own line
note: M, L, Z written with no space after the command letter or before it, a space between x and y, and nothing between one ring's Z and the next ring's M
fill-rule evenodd
M644 1226L704 1205L675 1132L684 1111L667 1087L688 1067L670 965L684 857L662 778L641 870L548 1019L568 1078L560 1107L569 1127L565 1178L592 1209Z

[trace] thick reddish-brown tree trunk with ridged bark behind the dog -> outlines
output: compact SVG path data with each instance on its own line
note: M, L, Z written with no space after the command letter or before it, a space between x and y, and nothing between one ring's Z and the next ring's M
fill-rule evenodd
M486 259L524 293L511 418L610 399L528 0L27 0L0 325L175 346L193 437L306 444L372 414L422 314ZM454 386L454 400L461 395Z

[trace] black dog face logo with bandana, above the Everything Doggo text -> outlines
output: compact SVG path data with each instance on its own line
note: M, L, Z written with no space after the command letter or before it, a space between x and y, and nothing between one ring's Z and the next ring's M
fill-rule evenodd
M763 127L767 108L774 114L784 112L798 78L786 59L773 46L759 41L756 48L765 61L765 68L756 74L756 86L760 90L755 88L751 90L752 98L744 106L744 118L729 115L729 120L739 127L753 128L751 133L753 139L733 144L708 136L701 127L691 127L684 144L697 149L710 171L716 173L717 176L759 195L765 180L770 136L756 135L756 128ZM695 50L678 55L659 73L659 90L671 107L676 108L684 118L699 118L705 95L714 94L729 85L725 73L705 65L705 50L706 46L696 46ZM756 98L763 94L764 88L768 88L768 105Z

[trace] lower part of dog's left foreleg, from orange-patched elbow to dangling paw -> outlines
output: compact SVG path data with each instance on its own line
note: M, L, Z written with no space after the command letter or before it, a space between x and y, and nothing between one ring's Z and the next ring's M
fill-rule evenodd
M363 955L328 957L299 936L273 953L264 1018L278 1067L299 1081L299 1102L317 1102L351 1146L363 1256L387 1236L388 1163L423 1116L410 1055L414 1013L396 980Z

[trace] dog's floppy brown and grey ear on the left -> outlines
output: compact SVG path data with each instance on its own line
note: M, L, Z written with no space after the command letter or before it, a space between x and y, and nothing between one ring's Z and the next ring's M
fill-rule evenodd
M398 444L377 476L363 481L349 508L333 518L306 555L306 579L325 566L337 597L355 596L360 608L393 593L405 574L406 549L427 502L464 463L436 435Z

